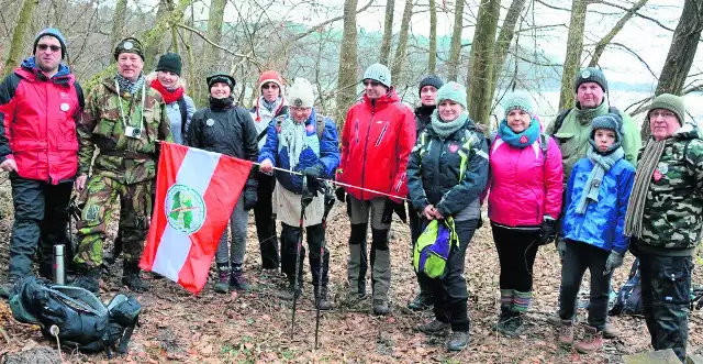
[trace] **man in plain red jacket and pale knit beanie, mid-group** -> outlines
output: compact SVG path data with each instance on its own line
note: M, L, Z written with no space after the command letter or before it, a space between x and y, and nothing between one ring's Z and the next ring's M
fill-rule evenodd
M341 201L347 202L352 222L347 267L352 299L366 297L366 232L371 218L375 315L390 311L389 231L393 211L405 221L399 197L408 196L405 167L415 142L413 111L400 102L391 85L391 74L381 64L371 65L364 74L364 98L347 112L337 169L338 181L360 187L344 187L336 192Z

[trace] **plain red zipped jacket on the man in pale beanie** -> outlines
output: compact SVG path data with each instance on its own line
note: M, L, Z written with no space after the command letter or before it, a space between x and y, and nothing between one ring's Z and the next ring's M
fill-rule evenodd
M405 168L415 144L415 117L391 90L372 102L366 95L347 112L337 180L393 196L408 195ZM382 195L345 188L358 200ZM397 201L398 202L398 201Z

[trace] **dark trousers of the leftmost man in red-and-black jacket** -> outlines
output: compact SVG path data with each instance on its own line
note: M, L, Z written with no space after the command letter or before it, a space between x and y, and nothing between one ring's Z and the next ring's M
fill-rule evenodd
M25 179L11 173L14 223L10 242L9 280L31 274L32 257L37 250L40 274L52 276L54 245L65 245L65 266L72 260L72 246L68 242L68 201L71 183L51 185L46 181Z

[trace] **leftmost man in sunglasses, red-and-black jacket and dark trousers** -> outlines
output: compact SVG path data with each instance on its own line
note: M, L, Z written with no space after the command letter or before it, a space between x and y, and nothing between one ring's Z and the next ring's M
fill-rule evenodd
M66 42L58 30L40 32L33 51L0 84L0 169L10 173L14 203L8 282L0 296L31 274L37 242L42 276L52 277L53 245L66 246L66 266L72 260L66 223L83 95L62 64Z

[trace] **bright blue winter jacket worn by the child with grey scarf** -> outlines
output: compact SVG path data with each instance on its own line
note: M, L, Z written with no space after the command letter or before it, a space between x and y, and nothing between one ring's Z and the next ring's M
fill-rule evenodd
M635 167L624 158L617 161L603 177L598 203L589 202L585 213L581 214L577 208L592 169L591 159L581 158L571 170L566 191L563 236L624 255L629 245L629 238L623 234L623 230Z

